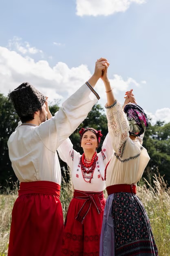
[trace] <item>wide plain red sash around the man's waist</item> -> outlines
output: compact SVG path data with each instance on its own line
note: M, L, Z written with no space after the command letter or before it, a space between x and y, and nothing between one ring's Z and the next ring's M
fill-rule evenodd
M18 195L25 194L49 194L60 197L60 185L51 181L21 182Z

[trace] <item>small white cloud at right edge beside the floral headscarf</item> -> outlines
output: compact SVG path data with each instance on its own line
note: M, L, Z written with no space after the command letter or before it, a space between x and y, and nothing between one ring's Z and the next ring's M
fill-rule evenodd
M152 124L156 124L157 121L164 121L166 124L170 123L170 108L157 109L155 114L146 111L146 114L152 118Z

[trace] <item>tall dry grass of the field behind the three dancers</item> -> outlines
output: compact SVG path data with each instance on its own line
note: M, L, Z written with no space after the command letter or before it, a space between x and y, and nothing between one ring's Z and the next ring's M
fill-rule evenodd
M170 189L162 177L155 175L154 188L145 180L145 184L139 185L137 190L148 212L159 256L170 256ZM72 183L63 181L60 200L64 218L72 197ZM7 256L11 211L16 198L16 184L12 191L7 187L0 195L0 256Z

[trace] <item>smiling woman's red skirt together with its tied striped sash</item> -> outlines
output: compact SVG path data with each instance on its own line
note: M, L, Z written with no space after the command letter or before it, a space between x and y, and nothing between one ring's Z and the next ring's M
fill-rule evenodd
M62 256L99 256L106 199L103 192L74 192L65 220Z

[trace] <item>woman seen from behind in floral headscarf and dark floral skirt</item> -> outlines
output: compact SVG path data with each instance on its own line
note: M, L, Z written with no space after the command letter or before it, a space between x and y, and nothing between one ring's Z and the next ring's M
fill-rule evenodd
M103 75L106 88L108 132L114 155L105 170L108 198L100 238L100 256L157 256L150 222L136 195L137 182L149 162L141 136L148 127L144 110L132 90L126 92L124 110Z

